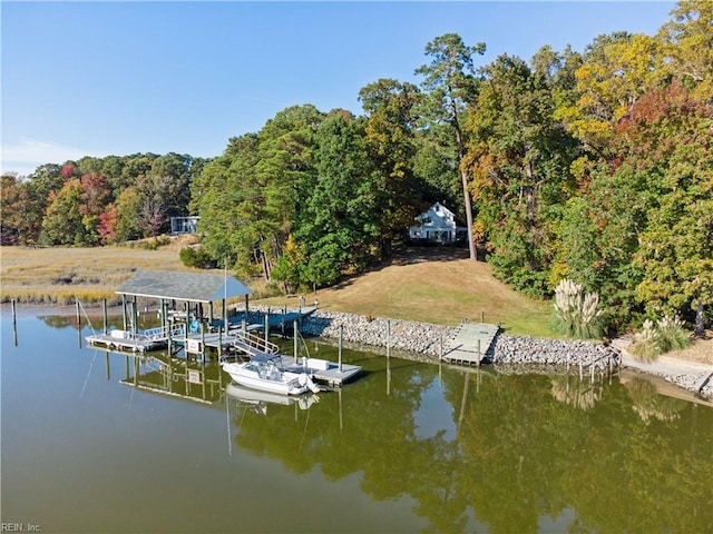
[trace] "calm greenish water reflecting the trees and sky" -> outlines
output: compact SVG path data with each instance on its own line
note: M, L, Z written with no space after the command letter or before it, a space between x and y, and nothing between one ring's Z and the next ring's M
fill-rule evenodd
M254 403L214 363L79 348L71 320L18 317L14 346L2 317L3 527L713 532L713 409L646 380L345 352L368 373L342 392Z

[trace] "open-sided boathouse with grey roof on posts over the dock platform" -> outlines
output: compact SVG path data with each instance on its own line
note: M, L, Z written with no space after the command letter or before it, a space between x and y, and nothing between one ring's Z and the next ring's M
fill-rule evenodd
M227 300L244 297L248 309L252 295L233 276L159 270L138 270L115 293L121 296L124 330L92 336L94 343L143 352L173 342L201 355L206 347L221 350L227 344ZM137 330L139 298L160 303L159 328Z

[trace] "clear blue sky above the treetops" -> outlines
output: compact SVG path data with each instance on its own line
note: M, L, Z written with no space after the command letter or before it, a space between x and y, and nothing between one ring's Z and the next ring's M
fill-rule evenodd
M477 65L655 33L673 2L0 2L2 171L82 156L218 156L289 106L362 109L418 83L427 42L485 41Z

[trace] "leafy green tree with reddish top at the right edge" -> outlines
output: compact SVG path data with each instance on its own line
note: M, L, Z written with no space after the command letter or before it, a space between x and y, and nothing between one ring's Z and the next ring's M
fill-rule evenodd
M713 301L713 106L677 83L651 91L622 126L629 159L648 174L652 206L635 261L651 316L696 314Z

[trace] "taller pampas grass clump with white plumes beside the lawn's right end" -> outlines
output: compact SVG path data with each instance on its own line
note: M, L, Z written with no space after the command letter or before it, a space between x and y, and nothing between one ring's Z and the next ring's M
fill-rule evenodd
M582 285L564 278L555 289L555 328L560 334L578 338L602 335L599 295L583 294Z

